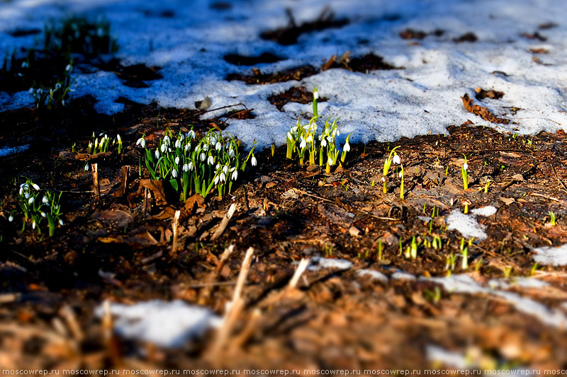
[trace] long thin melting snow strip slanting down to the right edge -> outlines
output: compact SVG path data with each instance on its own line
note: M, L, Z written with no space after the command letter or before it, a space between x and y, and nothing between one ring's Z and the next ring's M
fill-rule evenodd
M449 292L465 293L465 294L488 294L504 298L508 303L512 304L517 311L533 315L538 318L541 323L558 328L567 328L567 317L556 309L549 309L543 304L525 298L518 294L499 291L488 286L478 284L468 275L451 275L451 277L422 277L422 280L436 282L444 286Z

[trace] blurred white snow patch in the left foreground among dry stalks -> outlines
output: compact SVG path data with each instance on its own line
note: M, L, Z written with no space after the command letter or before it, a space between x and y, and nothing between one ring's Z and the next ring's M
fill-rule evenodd
M220 325L220 318L208 308L191 306L181 300L152 300L134 305L111 303L110 310L116 318L114 330L118 335L162 347L179 347L209 327ZM101 317L104 307L99 306L95 313Z

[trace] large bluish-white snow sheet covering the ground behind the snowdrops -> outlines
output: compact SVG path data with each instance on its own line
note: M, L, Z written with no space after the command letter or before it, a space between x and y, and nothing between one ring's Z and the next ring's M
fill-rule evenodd
M93 95L96 110L119 112L115 103L124 96L139 103L157 101L162 106L193 108L196 100L208 95L211 108L243 103L253 108L253 120L229 120L227 131L248 146L254 139L259 147L271 142L284 144L286 130L310 105L289 103L285 112L271 105L269 96L292 86L318 86L322 117L338 117L341 142L353 132L352 142L374 139L393 141L417 134L445 133L450 124L472 120L500 130L537 133L566 129L567 62L566 1L517 0L403 0L403 1L326 1L326 0L248 0L225 1L232 7L218 10L206 0L96 0L47 1L12 0L0 3L0 54L34 45L38 35L13 37L17 29L42 29L50 18L71 13L95 17L103 14L111 21L111 33L118 37L116 56L124 64L144 63L161 66L164 76L148 81L150 88L129 88L111 72L80 73L74 95ZM265 30L288 23L285 9L290 8L297 23L313 21L329 5L337 18L347 18L342 28L303 34L298 44L281 46L262 40ZM162 11L173 11L170 18ZM539 30L544 23L555 23L549 30ZM427 33L444 30L437 37L403 40L406 28ZM522 37L538 32L546 41ZM477 42L454 42L473 32ZM39 35L39 37L41 37ZM419 42L418 44L410 42ZM546 54L529 52L545 48ZM226 81L228 73L250 73L250 66L225 62L228 53L258 55L273 52L285 57L274 64L257 64L264 73L312 64L320 67L332 54L350 50L352 57L374 53L385 62L405 69L371 71L368 74L344 69L330 69L304 79L274 85L247 86L240 81ZM532 57L540 59L537 64ZM500 74L497 71L503 72ZM474 88L503 91L500 100L481 104L496 115L512 122L490 124L464 110L460 97ZM478 101L476 101L478 103ZM32 98L21 92L9 95L0 91L0 111L29 106ZM521 108L515 115L510 107ZM226 110L208 112L214 117Z

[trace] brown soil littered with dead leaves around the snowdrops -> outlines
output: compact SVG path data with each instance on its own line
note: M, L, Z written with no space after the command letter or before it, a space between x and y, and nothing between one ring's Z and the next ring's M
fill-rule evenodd
M120 115L105 117L88 110L86 98L64 112L18 110L0 117L2 144L32 144L30 151L2 158L0 164L3 368L417 368L429 365L424 350L430 344L454 352L468 349L496 363L567 364L565 332L505 301L437 291L429 282L391 279L384 284L357 276L362 268L388 276L397 269L415 276L447 274L447 255L460 254L462 237L447 231L445 220L465 203L470 209L490 204L498 212L478 218L488 238L471 245L471 267L457 267L454 273L468 272L479 281L503 277L510 267L512 277L531 274L532 248L567 242L563 132L518 137L480 126L450 127L447 135L353 145L343 166L331 173L287 160L283 146L274 156L269 150L260 153L257 168L239 176L230 197L185 206L159 204L156 197L145 214L147 172L142 168L140 177L135 140L145 133L152 145L166 127L176 131L195 124L206 130L210 121L198 120L196 110L128 106ZM119 132L125 151L123 156L96 156L102 190L96 199L91 172L82 170L82 157L71 146L84 147L91 132L101 129ZM381 187L383 161L398 145L405 171L403 200L395 166L388 192ZM466 191L463 154L470 182ZM124 165L131 169L126 195L120 196ZM21 232L17 211L12 223L6 220L17 207L14 179L22 175L64 192L65 225L53 238L29 226ZM232 203L235 215L211 240ZM179 251L170 255L171 216L179 207L184 207ZM548 211L558 225L546 225ZM437 215L431 226L419 217L432 213ZM405 248L413 237L420 242L434 236L442 239L441 250L421 243L416 260L399 255L400 242ZM217 273L228 245L235 245L235 253ZM255 256L245 307L222 352L212 348L210 336L169 350L108 337L94 316L105 299L133 303L150 298L180 298L222 315L249 247ZM284 289L296 268L293 262L317 255L354 265L346 271L305 272L296 289ZM538 267L539 279L554 289L522 294L555 308L564 299L565 272L565 267Z

